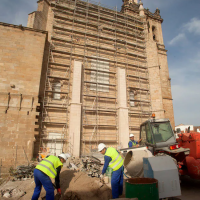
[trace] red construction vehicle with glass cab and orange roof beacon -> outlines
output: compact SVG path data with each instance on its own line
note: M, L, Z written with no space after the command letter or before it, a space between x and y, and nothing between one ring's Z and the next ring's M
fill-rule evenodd
M188 129L189 130L189 129ZM169 119L152 118L140 125L139 148L146 147L153 156L172 157L180 175L200 179L200 133L180 133L176 138ZM134 149L137 147L132 147ZM130 148L122 149L127 153Z

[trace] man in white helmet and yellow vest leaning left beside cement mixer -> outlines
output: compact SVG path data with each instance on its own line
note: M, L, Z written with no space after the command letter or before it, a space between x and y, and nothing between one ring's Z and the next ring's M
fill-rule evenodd
M103 178L106 173L107 167L113 169L111 178L112 196L113 199L119 198L123 192L123 158L118 151L113 147L106 147L101 143L98 145L98 151L104 155L104 167L100 178Z

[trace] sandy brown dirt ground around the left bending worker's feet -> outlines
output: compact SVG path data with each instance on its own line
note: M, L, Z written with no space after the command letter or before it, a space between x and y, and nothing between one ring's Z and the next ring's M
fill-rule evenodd
M55 198L56 200L108 200L111 199L111 189L106 185L100 188L99 179L90 178L83 172L75 172L72 170L62 170L60 174L60 183L62 197ZM4 183L0 186L0 191L5 189L16 189L17 191L26 191L26 194L19 198L9 198L9 200L30 200L34 191L34 179L26 181L15 181ZM56 190L55 190L56 194ZM42 189L40 200L45 196L45 191ZM5 200L8 198L1 198ZM44 198L45 199L45 198Z

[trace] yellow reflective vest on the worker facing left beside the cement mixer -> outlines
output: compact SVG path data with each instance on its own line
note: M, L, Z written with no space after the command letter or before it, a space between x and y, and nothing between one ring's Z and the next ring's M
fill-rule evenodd
M112 160L109 162L109 167L111 167L113 171L117 171L123 165L124 160L115 148L108 147L106 149L105 156L112 158Z

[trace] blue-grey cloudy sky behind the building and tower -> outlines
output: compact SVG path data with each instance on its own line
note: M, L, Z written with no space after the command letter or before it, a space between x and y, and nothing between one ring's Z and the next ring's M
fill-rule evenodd
M26 26L37 0L0 0L0 21ZM122 0L93 0L120 10ZM175 124L200 125L200 0L143 0L154 12L158 7L162 24Z

